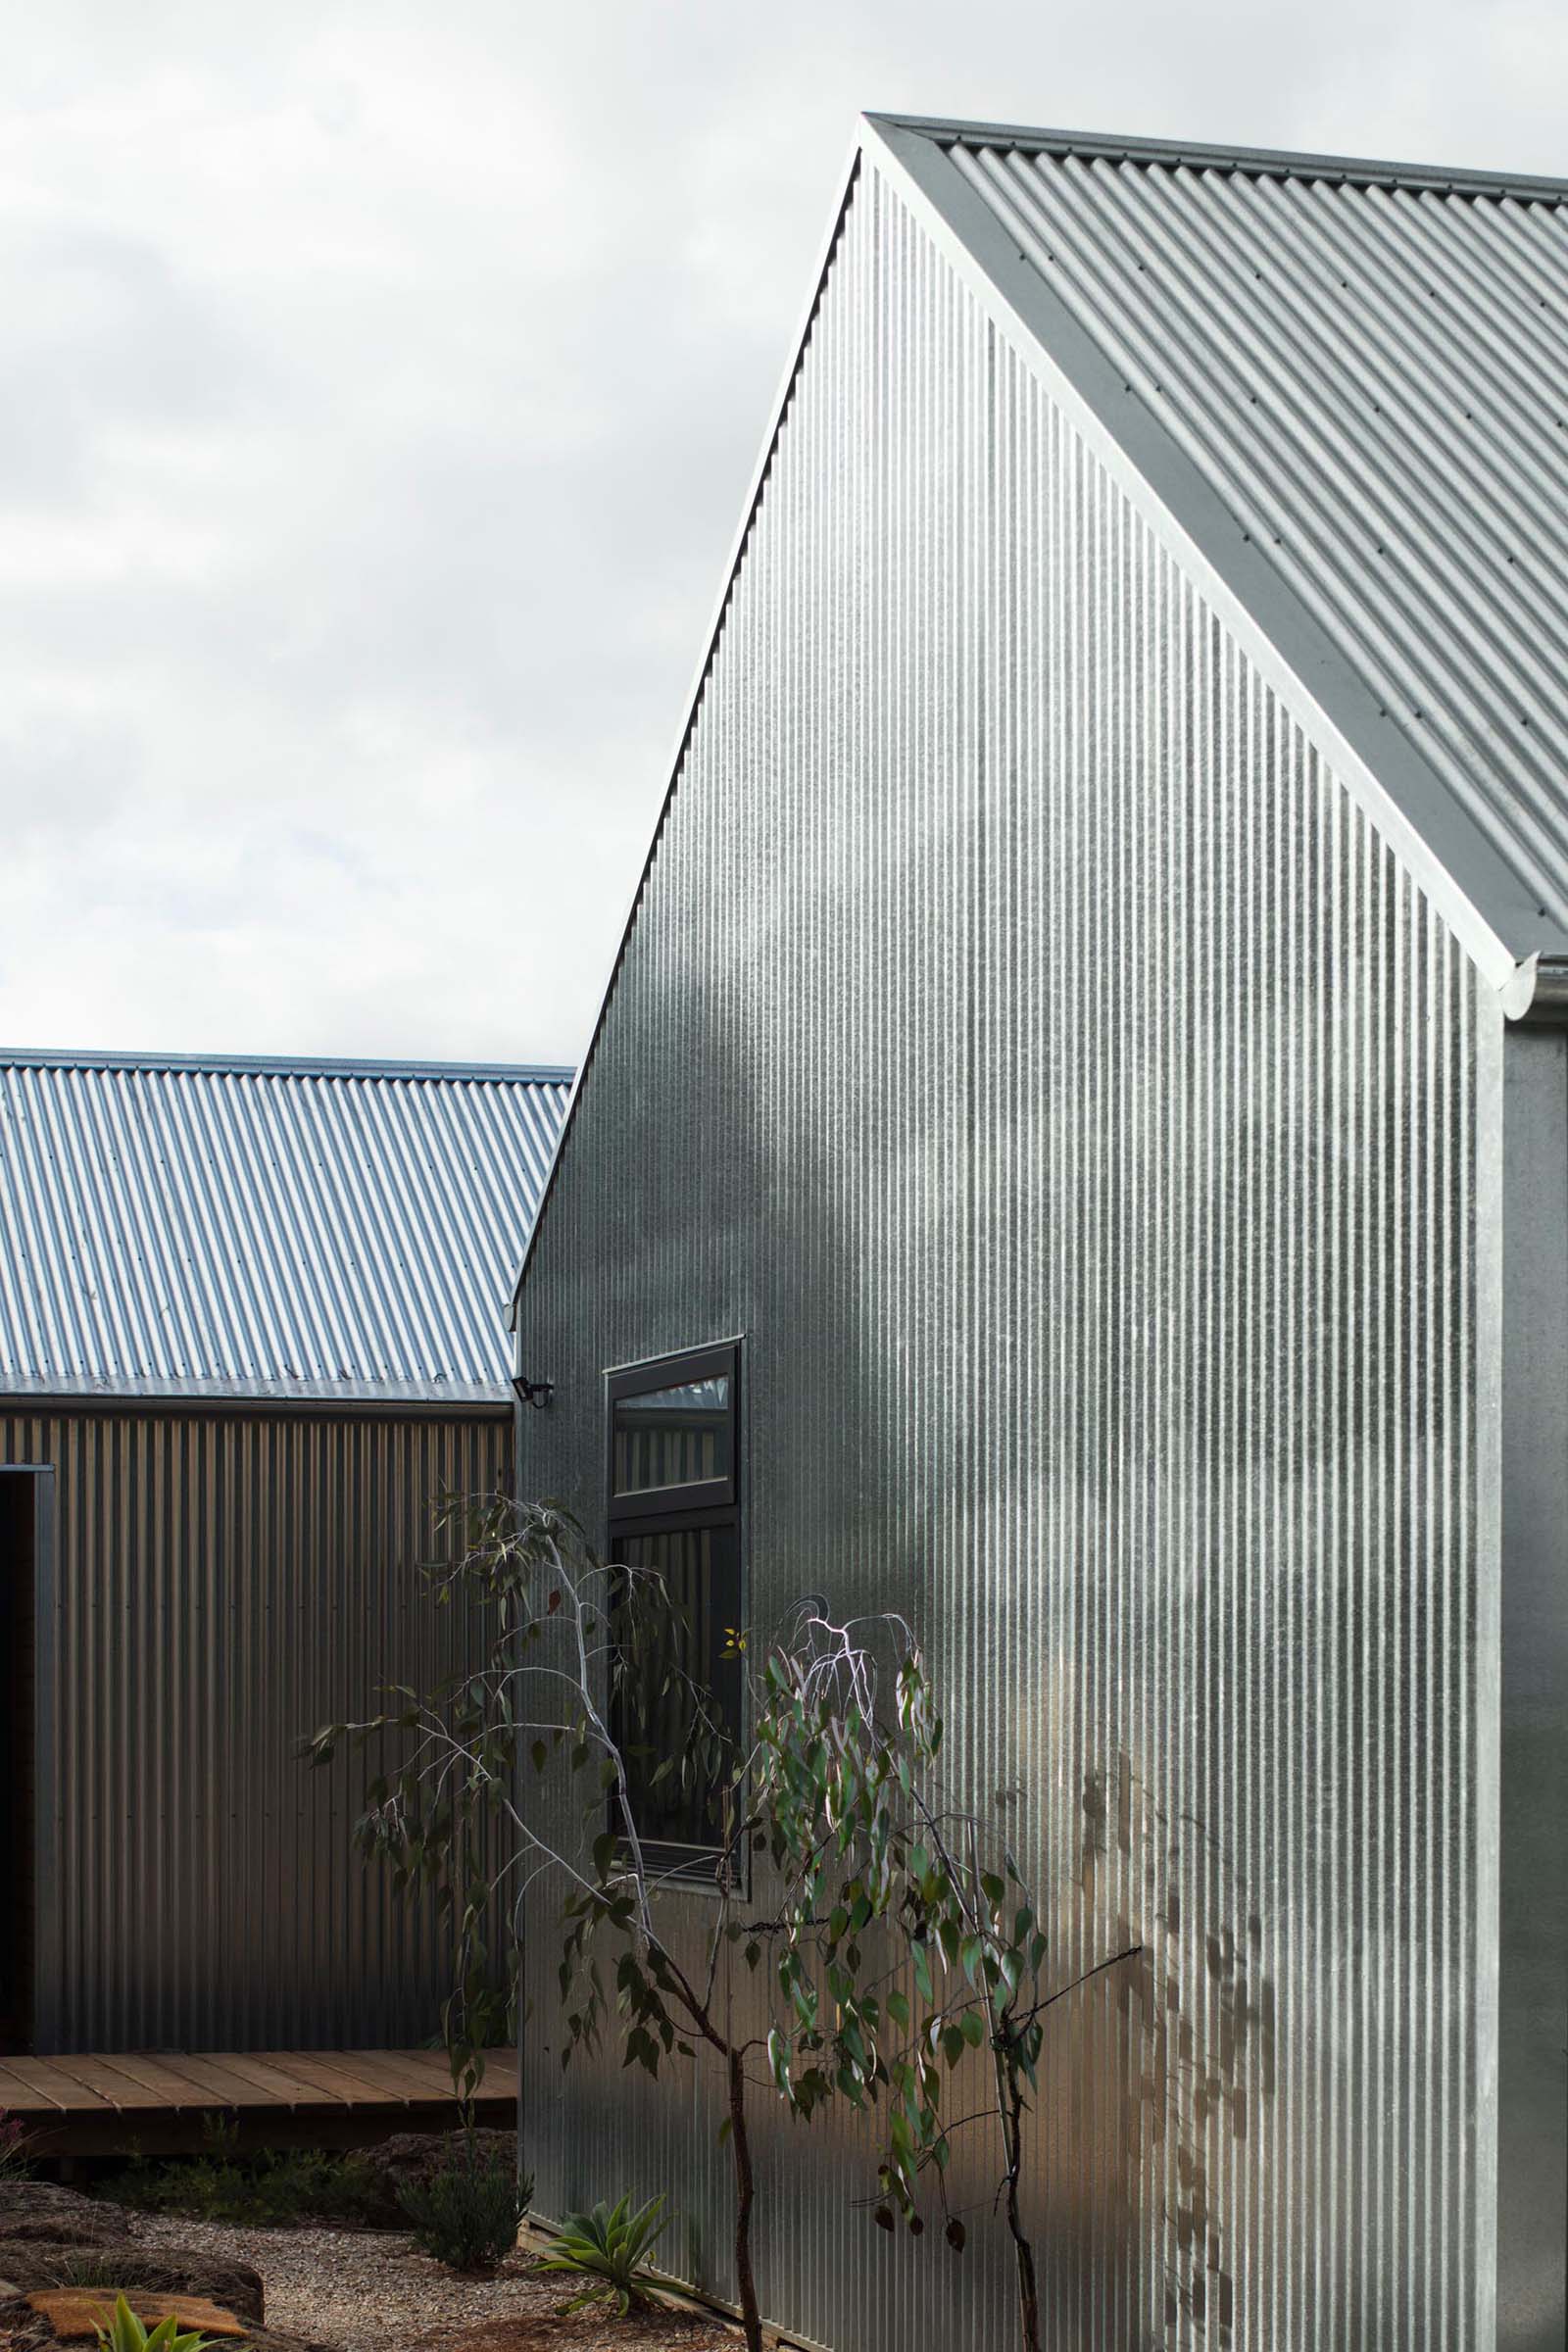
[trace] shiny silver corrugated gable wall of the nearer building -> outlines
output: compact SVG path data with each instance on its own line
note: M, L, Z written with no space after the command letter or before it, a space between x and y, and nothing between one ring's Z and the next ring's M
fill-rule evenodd
M1048 2044L1058 2352L1486 2340L1497 1056L865 174L538 1228L520 1477L597 1517L599 1369L743 1331L752 1623L910 1609L1063 1973L1145 1943ZM717 2086L559 2103L543 1912L529 1962L543 2201L670 2190L722 2286ZM1011 2340L976 2133L954 2260L769 2114L780 2319Z

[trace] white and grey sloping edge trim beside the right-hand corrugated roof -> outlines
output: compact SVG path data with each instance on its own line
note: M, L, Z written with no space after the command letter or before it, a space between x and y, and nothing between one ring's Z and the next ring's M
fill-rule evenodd
M1521 964L1568 946L1556 924L945 146L870 118L865 153L1512 1009Z

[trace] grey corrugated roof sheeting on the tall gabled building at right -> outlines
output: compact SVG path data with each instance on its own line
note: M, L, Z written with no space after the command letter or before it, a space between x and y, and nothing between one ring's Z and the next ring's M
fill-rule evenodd
M1483 920L1519 957L1561 953L1568 183L898 127L950 158L1490 842L1521 891Z

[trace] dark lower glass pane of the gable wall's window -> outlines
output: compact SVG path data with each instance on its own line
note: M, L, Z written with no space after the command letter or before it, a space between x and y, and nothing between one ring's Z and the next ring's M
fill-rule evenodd
M712 1853L726 1839L724 1780L741 1738L733 1526L621 1536L616 1559L654 1571L623 1602L614 1729L628 1759L637 1835Z

